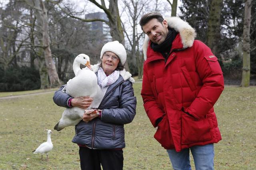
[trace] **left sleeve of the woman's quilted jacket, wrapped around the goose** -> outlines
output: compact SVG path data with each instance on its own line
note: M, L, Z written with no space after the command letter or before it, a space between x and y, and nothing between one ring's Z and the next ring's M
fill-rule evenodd
M53 101L56 105L58 106L61 106L61 107L67 107L69 108L68 106L68 100L70 98L72 98L71 96L69 96L68 94L62 92L62 89L66 86L63 85L59 88L59 90L57 90L54 95L53 95Z

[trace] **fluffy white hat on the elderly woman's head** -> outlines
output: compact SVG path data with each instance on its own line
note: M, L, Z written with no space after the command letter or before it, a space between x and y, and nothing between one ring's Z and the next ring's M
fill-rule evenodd
M124 63L126 62L126 50L124 49L124 46L118 41L112 41L112 42L106 43L101 49L100 59L102 59L103 54L106 51L115 53L119 57L122 65L124 65Z

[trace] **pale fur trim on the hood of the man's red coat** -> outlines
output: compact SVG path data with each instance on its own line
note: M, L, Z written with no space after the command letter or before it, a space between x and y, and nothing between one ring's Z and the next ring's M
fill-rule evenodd
M175 31L180 33L183 48L185 49L188 47L192 47L194 43L194 39L196 37L195 29L192 28L186 21L183 21L179 17L165 18L165 20L167 21L169 27L175 29ZM148 36L146 36L142 46L145 61L147 59L148 42L149 42L149 38Z

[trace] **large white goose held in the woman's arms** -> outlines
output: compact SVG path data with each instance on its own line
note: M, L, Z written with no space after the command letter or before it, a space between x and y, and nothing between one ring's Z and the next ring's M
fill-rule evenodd
M80 64L86 65L88 68L80 69ZM91 70L90 58L88 55L78 55L73 63L75 77L68 80L67 85L63 88L73 98L80 96L90 96L93 102L90 107L97 108L103 98L103 92L98 85L96 74ZM54 129L60 131L68 126L77 125L83 117L84 109L79 107L66 108L62 113L60 121L54 126Z

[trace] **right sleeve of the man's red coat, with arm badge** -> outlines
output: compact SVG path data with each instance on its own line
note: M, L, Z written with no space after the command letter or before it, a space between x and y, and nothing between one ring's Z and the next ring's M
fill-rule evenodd
M217 57L201 41L194 42L194 56L203 86L185 111L196 118L202 118L214 106L224 90L224 78Z

